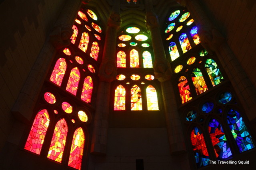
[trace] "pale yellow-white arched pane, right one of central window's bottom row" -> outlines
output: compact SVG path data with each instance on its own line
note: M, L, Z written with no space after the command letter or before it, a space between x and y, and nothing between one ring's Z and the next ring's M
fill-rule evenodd
M156 89L149 85L146 88L148 110L159 110Z

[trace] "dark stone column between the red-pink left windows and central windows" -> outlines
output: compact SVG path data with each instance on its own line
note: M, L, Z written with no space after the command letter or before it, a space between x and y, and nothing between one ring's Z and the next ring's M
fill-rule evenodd
M98 74L100 84L92 131L91 153L93 154L106 154L110 87L111 82L116 78L116 36L120 25L119 4L116 2L108 19L102 63L100 64L100 72Z

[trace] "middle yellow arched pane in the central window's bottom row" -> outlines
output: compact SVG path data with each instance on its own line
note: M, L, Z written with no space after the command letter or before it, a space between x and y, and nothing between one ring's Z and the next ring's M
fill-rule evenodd
M141 91L136 84L131 88L131 110L142 110Z

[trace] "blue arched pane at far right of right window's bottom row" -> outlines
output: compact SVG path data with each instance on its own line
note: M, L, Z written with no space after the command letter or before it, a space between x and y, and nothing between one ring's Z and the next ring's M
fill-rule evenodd
M230 109L227 114L227 121L239 152L244 152L255 147L244 120L238 111Z

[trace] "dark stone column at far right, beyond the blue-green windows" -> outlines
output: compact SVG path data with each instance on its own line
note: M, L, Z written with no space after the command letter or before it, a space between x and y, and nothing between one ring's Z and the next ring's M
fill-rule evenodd
M224 37L206 17L198 0L177 0L186 4L199 28L202 46L210 53L216 53L236 94L245 109L248 119L256 125L256 89L247 77L236 56ZM181 2L182 1L182 2Z

